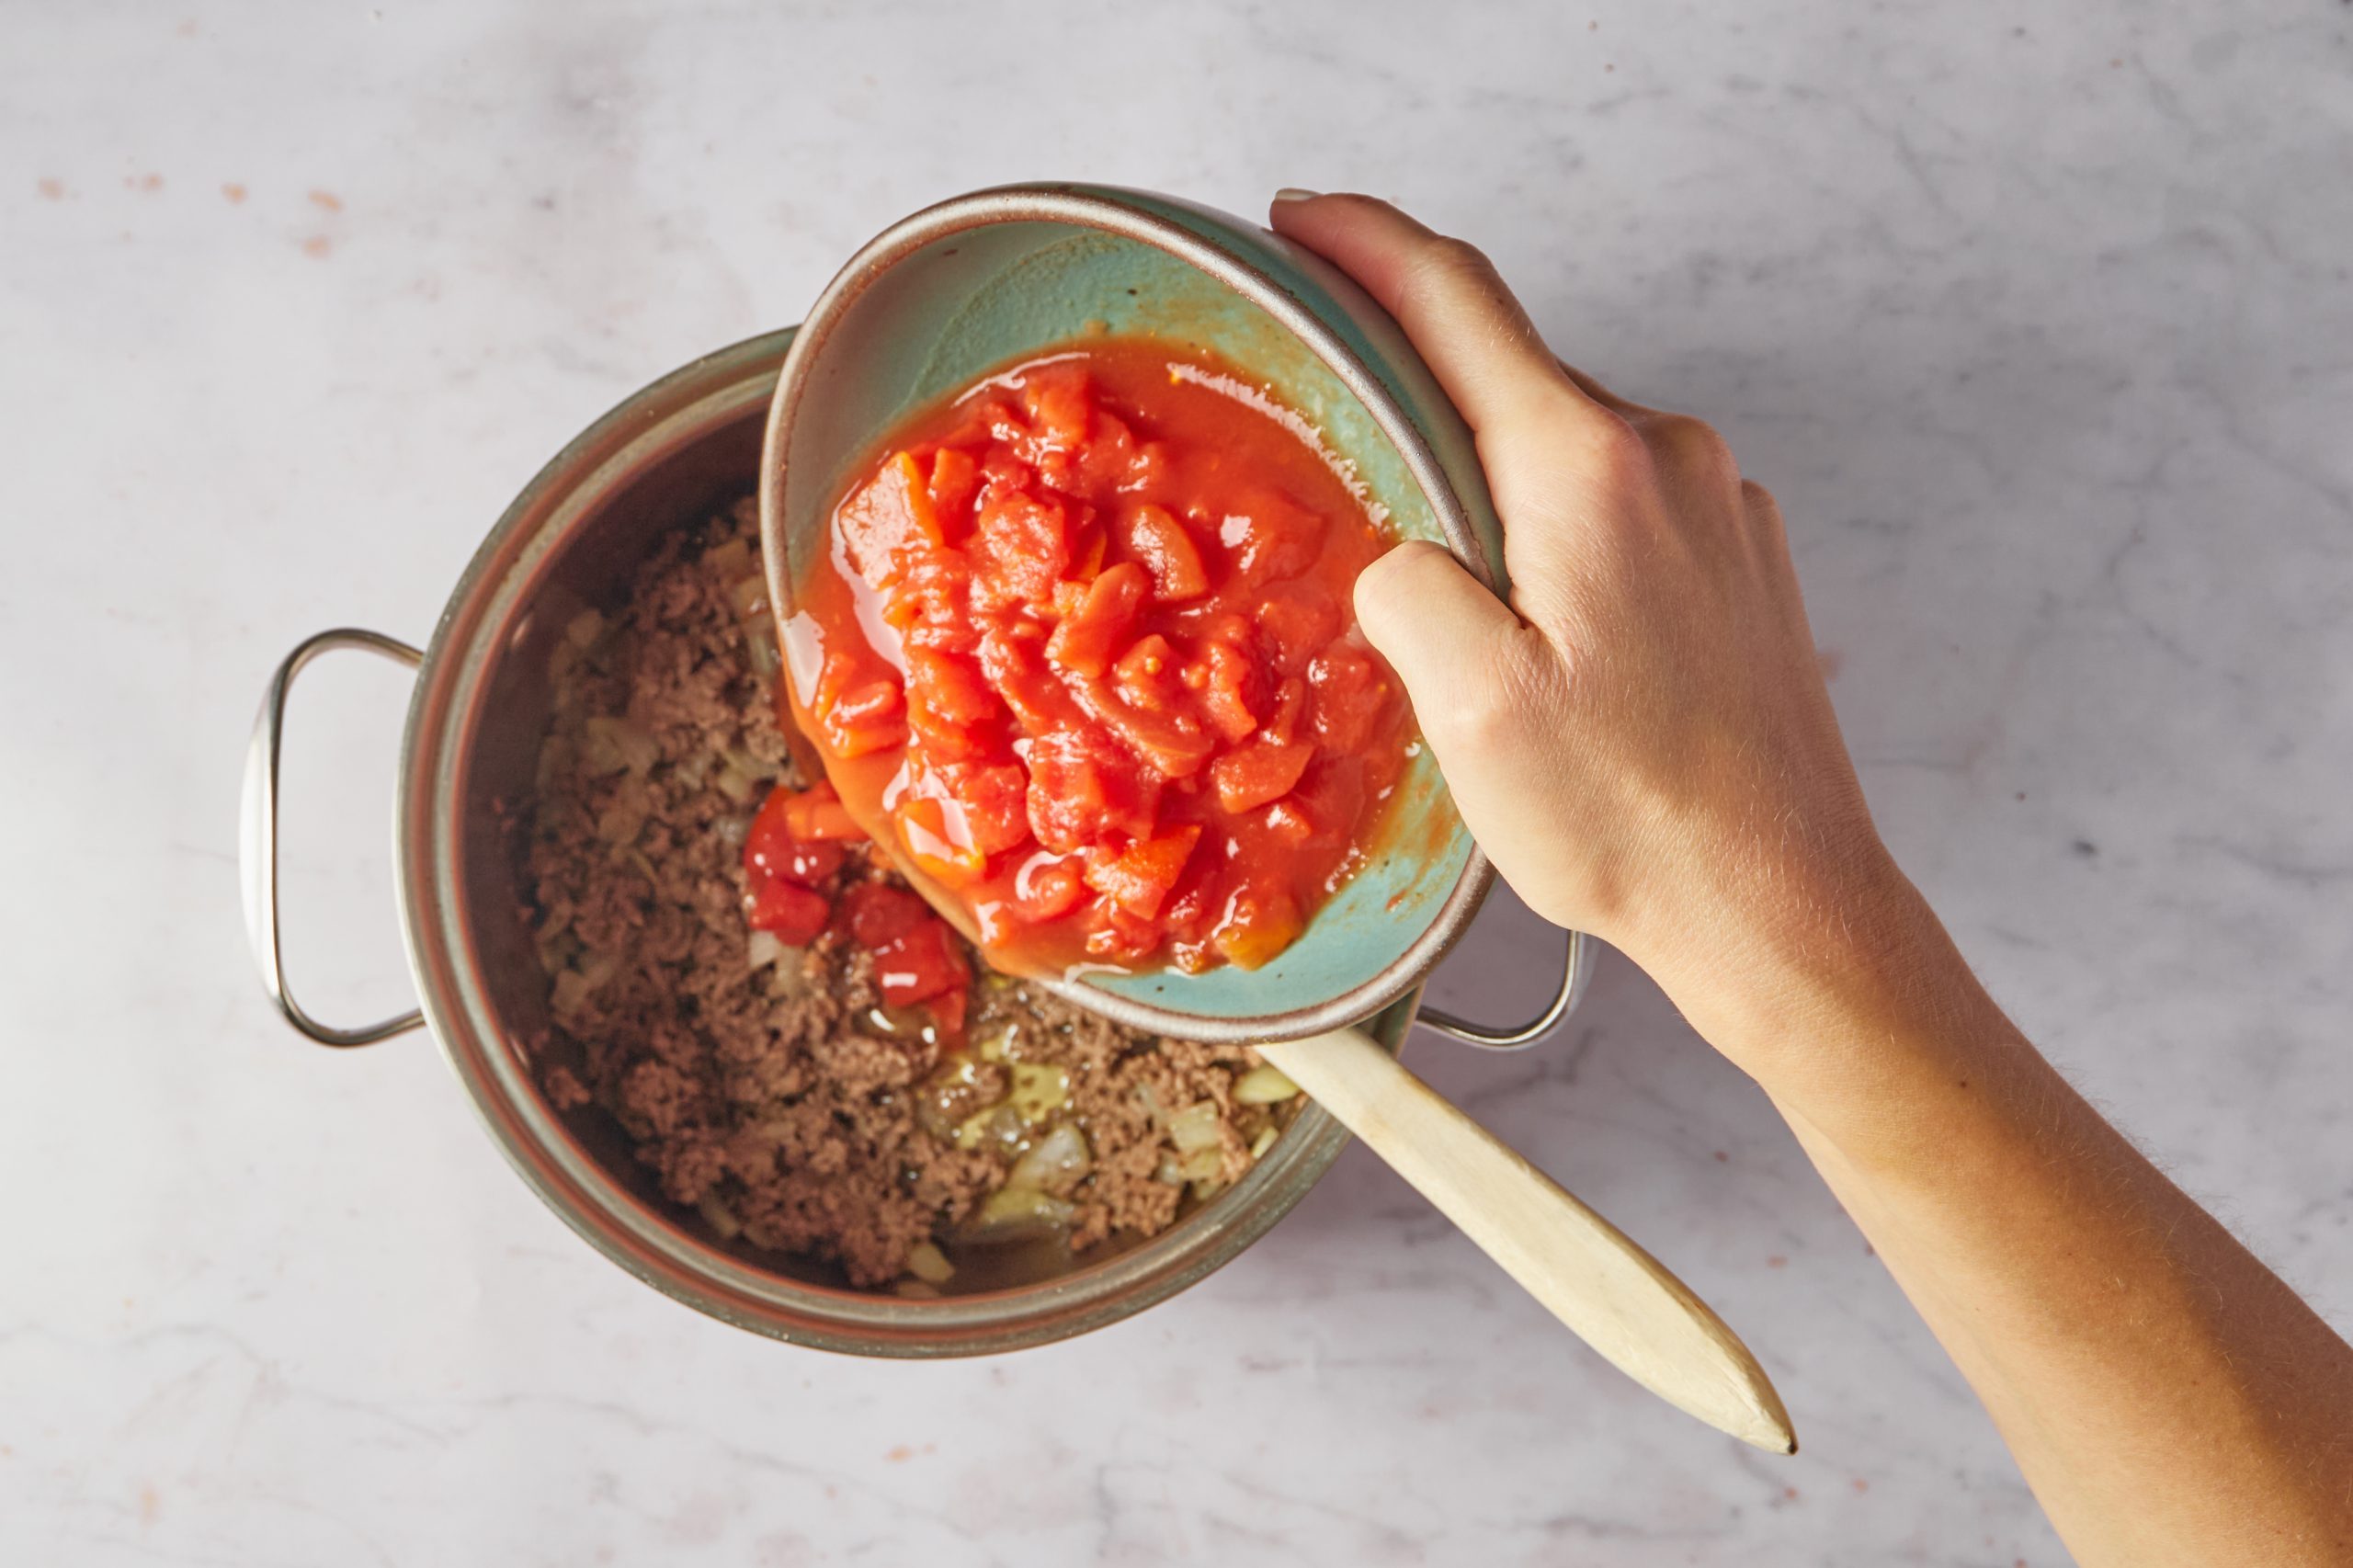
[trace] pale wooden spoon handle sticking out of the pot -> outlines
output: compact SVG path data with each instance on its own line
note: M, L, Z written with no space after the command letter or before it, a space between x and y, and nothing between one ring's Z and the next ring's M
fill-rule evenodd
M1744 1443L1798 1453L1765 1368L1689 1285L1369 1036L1259 1052L1621 1373Z

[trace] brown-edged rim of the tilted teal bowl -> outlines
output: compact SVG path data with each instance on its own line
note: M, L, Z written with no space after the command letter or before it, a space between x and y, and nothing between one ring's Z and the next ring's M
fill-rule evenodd
M1353 280L1320 257L1299 250L1282 235L1259 228L1257 224L1233 217L1231 212L1219 212L1214 207L1184 202L1151 191L1071 181L988 186L984 191L951 195L948 200L899 219L859 247L859 252L816 297L816 304L809 306L809 315L800 323L800 332L793 334L793 344L784 356L784 370L776 377L776 393L769 400L767 431L760 440L760 558L767 572L772 614L776 614L779 622L793 605L793 584L786 572L786 551L781 544L786 440L793 417L800 410L800 400L814 377L819 356L824 356L835 327L842 325L866 290L871 290L892 266L941 240L995 224L1068 224L1073 228L1092 228L1125 240L1136 240L1195 266L1266 311L1280 327L1301 339L1315 358L1320 358L1325 367L1339 377L1358 403L1365 405L1372 414L1374 428L1379 428L1405 459L1405 469L1412 476L1414 487L1421 490L1428 501L1431 513L1438 518L1438 527L1445 532L1454 558L1461 560L1482 586L1497 586L1501 563L1489 560L1480 549L1480 537L1471 527L1471 513L1454 485L1447 480L1435 447L1428 436L1424 436L1421 426L1414 424L1405 403L1388 391L1379 370L1273 271L1247 259L1245 254L1238 254L1235 250L1217 245L1195 228L1162 214L1158 207L1184 207L1188 214L1214 228L1242 233L1252 245L1273 250L1289 264L1299 266L1301 273L1313 278L1341 311L1381 311L1381 306L1374 304L1369 294L1362 294ZM1351 301L1351 294L1355 301ZM1113 1022L1132 1029L1146 1029L1151 1034L1224 1045L1304 1038L1367 1019L1381 1008L1388 1008L1412 994L1414 986L1419 986L1428 972L1438 968L1447 951L1452 951L1452 946L1471 930L1471 921L1478 916L1478 909L1492 885L1494 864L1473 838L1471 855L1464 862L1461 873L1454 878L1454 888L1431 916L1431 923L1405 946L1402 954L1391 958L1369 979L1362 979L1337 996L1299 1008L1285 1008L1280 1012L1205 1017L1179 1008L1136 1001L1132 996L1118 996L1085 982L1040 979L1040 984L1080 1008L1089 1008Z

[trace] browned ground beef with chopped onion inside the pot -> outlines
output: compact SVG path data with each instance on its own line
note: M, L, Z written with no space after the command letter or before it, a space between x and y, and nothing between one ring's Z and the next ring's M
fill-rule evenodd
M746 925L746 826L805 784L755 539L748 499L673 537L555 652L529 876L584 1067L546 1067L548 1099L602 1104L720 1236L908 1295L965 1245L1054 1227L1085 1250L1235 1182L1292 1109L1257 1052L1144 1036L979 965L967 1045L944 1050L927 1015L880 1005L842 932L793 949ZM847 878L896 881L864 848Z

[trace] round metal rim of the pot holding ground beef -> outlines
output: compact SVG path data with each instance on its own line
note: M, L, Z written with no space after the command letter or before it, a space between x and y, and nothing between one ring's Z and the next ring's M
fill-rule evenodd
M607 1260L708 1316L816 1349L939 1358L1064 1340L1153 1307L1238 1257L1346 1147L1313 1102L1233 1189L1176 1227L1033 1285L939 1297L814 1285L720 1253L621 1187L553 1116L482 984L464 902L471 746L487 678L529 617L558 546L633 473L758 414L795 330L708 353L647 384L574 436L508 504L442 607L400 744L395 892L419 1005L492 1142L539 1198ZM1402 1043L1419 991L1374 1029Z

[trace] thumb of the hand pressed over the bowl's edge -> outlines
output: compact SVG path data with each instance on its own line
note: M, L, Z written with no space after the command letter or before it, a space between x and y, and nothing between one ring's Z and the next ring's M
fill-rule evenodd
M1454 556L1407 539L1355 579L1355 619L1414 699L1421 727L1468 706L1475 687L1520 655L1529 629ZM1489 709L1492 695L1475 706Z

